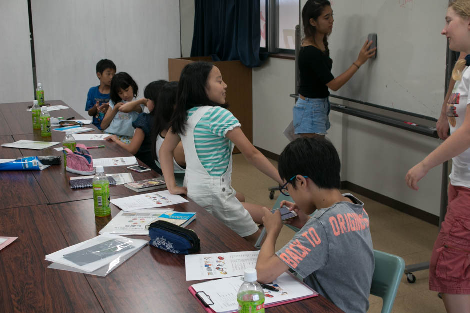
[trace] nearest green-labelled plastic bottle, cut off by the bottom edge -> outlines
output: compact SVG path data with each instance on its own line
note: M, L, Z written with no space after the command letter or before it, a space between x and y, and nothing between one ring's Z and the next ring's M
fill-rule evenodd
M264 292L257 280L256 269L245 269L243 284L236 298L238 300L238 312L260 313L264 312Z

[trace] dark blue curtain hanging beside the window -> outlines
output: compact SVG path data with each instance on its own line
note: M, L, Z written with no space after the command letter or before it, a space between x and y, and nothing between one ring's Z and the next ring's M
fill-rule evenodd
M260 28L259 0L195 0L191 56L259 66Z

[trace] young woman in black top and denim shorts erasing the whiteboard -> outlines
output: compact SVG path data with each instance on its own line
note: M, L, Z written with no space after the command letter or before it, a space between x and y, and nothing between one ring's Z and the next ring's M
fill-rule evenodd
M327 0L308 0L302 10L305 32L298 54L300 86L293 108L295 133L305 137L324 136L330 127L328 88L342 87L367 59L375 55L372 42L365 41L359 57L341 75L331 74L333 61L329 57L328 36L333 29L333 10Z

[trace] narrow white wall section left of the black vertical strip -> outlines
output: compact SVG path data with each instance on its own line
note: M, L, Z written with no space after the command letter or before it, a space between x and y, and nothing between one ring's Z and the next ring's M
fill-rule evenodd
M0 1L0 102L34 100L27 1Z

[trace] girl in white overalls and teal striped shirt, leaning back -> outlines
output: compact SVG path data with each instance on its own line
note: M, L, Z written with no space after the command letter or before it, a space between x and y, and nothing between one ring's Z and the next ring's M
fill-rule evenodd
M236 199L231 187L233 144L261 172L279 184L282 180L276 168L243 134L238 120L225 109L226 89L216 66L194 62L184 67L171 128L159 152L160 164L170 193L187 194L238 235L254 243L260 234L256 223L262 223L267 209ZM187 187L176 186L174 180L173 150L179 141L186 156Z

